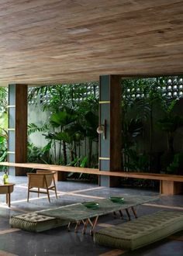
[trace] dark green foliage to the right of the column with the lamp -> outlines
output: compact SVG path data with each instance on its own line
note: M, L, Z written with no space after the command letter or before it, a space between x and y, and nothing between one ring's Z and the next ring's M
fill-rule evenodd
M140 170L141 168L142 171L154 171L152 169L154 150L158 150L154 148L154 131L162 136L163 133L167 134L168 147L166 149L165 146L164 152L159 154L161 155L160 168L166 171L174 157L174 135L176 130L183 126L183 116L174 112L178 99L172 99L172 96L167 94L168 80L169 77L122 81L123 166L126 170ZM158 115L162 117L157 120ZM147 127L148 131L145 130ZM159 131L155 130L156 127ZM144 134L148 134L149 150L146 145L147 137ZM143 147L144 142L145 147ZM174 164L171 170L173 166Z

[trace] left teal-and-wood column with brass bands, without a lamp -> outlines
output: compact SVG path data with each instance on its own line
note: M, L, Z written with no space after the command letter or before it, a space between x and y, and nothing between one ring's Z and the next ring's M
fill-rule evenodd
M9 85L8 161L27 159L27 85ZM22 168L9 168L9 175L23 175Z

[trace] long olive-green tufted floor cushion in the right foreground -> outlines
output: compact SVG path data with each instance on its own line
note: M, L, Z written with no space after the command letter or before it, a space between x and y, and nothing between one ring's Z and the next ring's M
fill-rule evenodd
M183 230L183 212L158 211L98 230L94 241L106 247L134 250Z

